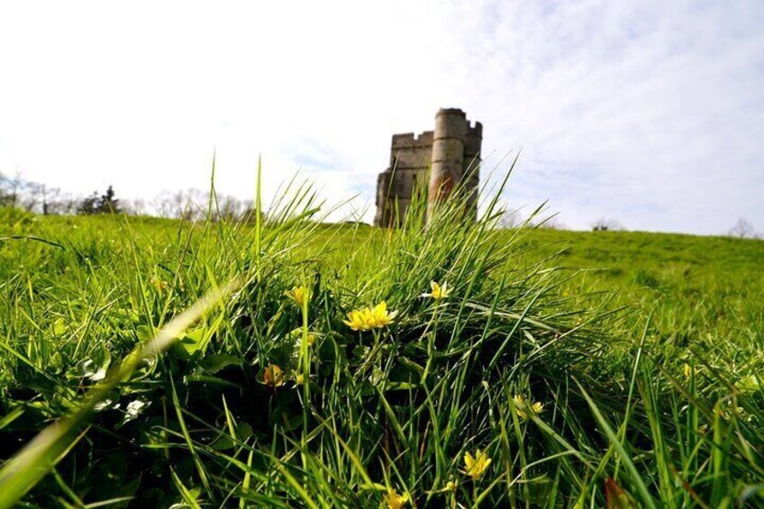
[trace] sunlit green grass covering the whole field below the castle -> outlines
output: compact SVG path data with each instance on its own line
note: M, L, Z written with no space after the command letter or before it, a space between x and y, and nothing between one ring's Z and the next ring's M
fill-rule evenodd
M296 195L262 228L2 211L0 506L764 502L764 242L327 226Z

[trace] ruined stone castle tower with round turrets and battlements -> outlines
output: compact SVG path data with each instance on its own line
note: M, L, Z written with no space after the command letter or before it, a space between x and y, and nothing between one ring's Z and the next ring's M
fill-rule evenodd
M477 217L480 145L483 126L470 125L459 109L441 109L435 115L435 131L394 134L390 167L377 177L377 226L403 223L416 189L427 190L430 217L439 202L448 199L454 186L464 183L470 213ZM428 173L429 171L429 173ZM428 179L426 180L425 179Z

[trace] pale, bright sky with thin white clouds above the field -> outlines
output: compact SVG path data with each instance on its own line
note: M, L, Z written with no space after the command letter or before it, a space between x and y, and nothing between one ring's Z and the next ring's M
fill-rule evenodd
M764 2L0 1L0 172L136 198L298 174L370 221L396 132L484 125L570 229L764 232ZM527 214L526 212L526 214Z

